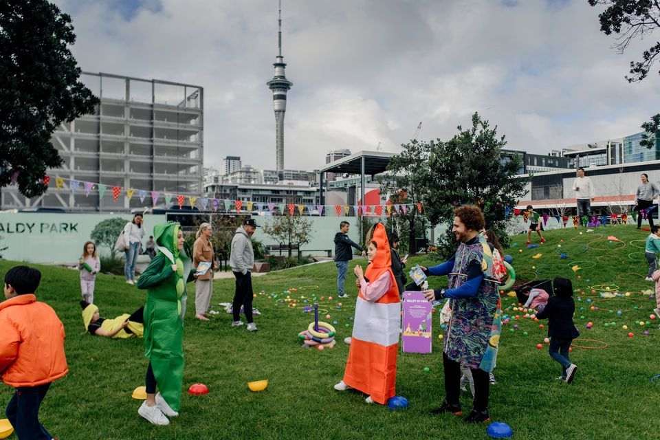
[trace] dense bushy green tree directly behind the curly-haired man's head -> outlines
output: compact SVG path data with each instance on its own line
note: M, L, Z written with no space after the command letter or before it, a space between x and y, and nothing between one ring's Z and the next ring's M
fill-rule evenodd
M444 223L448 232L441 237L441 256L450 256L456 249L451 225L456 206L471 203L484 213L486 227L496 232L500 243L509 239L505 223L511 209L525 195L529 177L516 175L522 157L514 155L503 161L500 151L506 145L505 136L497 137L497 127L489 128L478 113L472 115L472 126L447 142L437 140L431 147L428 178L423 191L426 217L432 225ZM421 167L420 167L421 168ZM509 209L507 209L509 208Z

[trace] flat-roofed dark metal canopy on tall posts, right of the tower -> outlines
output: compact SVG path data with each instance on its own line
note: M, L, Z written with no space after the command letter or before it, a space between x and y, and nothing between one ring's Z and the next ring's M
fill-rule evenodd
M390 158L394 153L385 153L384 151L358 151L350 156L342 157L336 161L326 164L319 170L320 180L320 203L325 204L325 173L358 174L362 182L362 200L364 200L364 176L373 176L384 173Z

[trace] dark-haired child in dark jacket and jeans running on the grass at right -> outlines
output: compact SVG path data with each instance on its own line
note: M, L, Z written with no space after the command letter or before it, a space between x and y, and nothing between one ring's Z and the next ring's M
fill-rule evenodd
M554 296L551 296L545 307L539 307L536 318L548 319L548 336L550 338L550 356L562 365L562 380L566 384L573 382L577 366L571 363L569 348L573 339L580 332L573 323L575 303L573 302L573 285L567 278L553 280Z

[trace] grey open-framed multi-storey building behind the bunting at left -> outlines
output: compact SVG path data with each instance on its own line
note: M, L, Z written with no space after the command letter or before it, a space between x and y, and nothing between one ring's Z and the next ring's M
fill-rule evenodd
M34 199L3 188L2 209L120 211L151 204L151 194L142 202L139 190L181 195L203 191L202 87L87 72L81 80L100 103L94 113L61 124L53 134L52 144L64 163L47 170L53 177L50 188ZM65 179L59 190L56 176ZM72 190L72 180L95 185L86 195L82 183ZM102 198L98 184L106 186ZM122 188L116 202L112 186ZM126 188L135 190L130 200Z

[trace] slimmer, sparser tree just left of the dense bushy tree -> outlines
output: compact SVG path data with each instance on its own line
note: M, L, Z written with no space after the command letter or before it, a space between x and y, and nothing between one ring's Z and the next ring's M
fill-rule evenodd
M411 140L408 144L402 144L403 151L399 155L390 158L387 166L388 173L380 177L380 192L388 197L393 205L413 204L412 209L406 213L394 212L391 223L395 223L395 229L404 230L407 236L401 236L401 248L408 249L411 254L417 252L412 249L415 243L415 231L419 229L423 217L414 203L423 201L426 192L430 190L428 180L429 169L426 166L430 157L431 144L418 140ZM400 223L406 223L406 226Z

